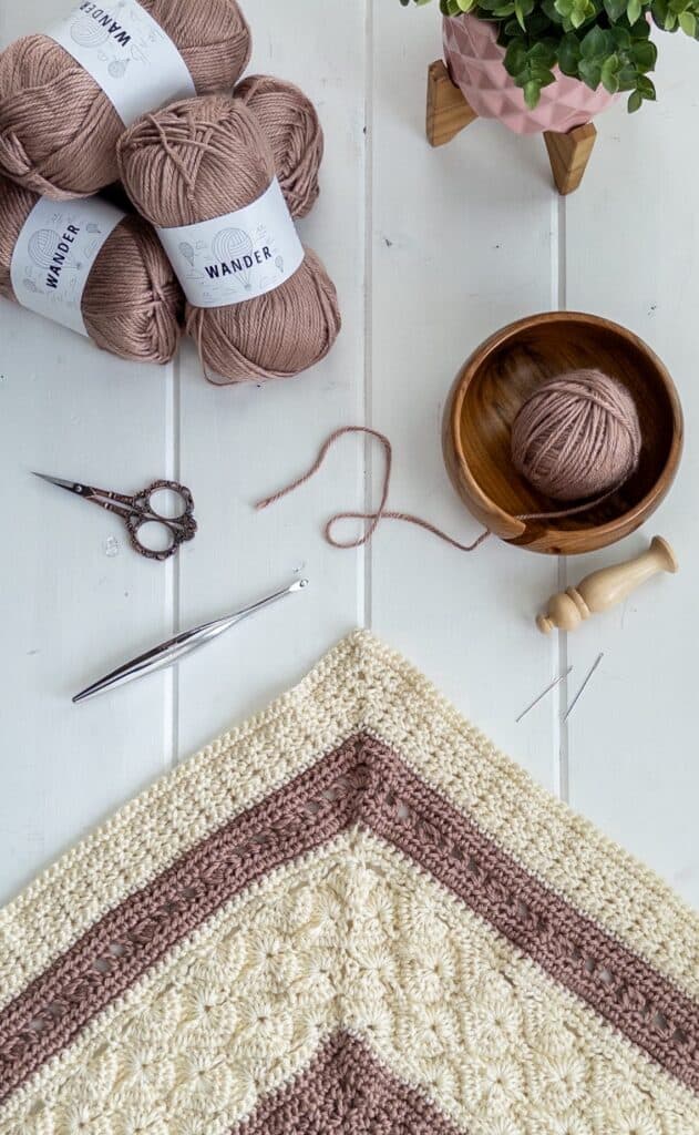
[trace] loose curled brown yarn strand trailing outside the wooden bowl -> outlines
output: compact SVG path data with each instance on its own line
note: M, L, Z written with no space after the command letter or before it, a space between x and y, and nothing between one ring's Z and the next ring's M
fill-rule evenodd
M351 549L361 548L363 545L369 544L373 537L376 530L382 520L399 520L406 524L414 524L418 528L424 529L427 532L431 532L438 539L444 540L445 544L450 545L450 547L456 548L458 552L475 552L481 544L483 544L488 537L491 535L488 529L486 529L472 544L461 544L453 536L449 536L443 529L437 528L436 524L430 523L428 520L423 520L421 516L415 516L410 512L393 512L387 508L388 505L388 494L390 490L390 477L393 472L393 446L385 434L379 430L371 429L369 426L344 426L342 429L335 430L330 437L322 444L318 457L311 465L311 468L302 473L295 481L290 485L285 486L285 488L279 489L277 493L272 493L271 496L264 497L262 501L258 501L255 508L261 511L269 507L271 504L276 504L277 501L281 501L283 497L288 496L290 493L295 493L296 489L301 488L308 481L310 481L315 473L320 470L323 464L328 452L332 448L336 442L346 434L364 434L368 437L374 438L381 445L385 455L385 469L384 469L384 484L381 488L381 498L379 506L376 512L338 512L334 516L330 516L323 529L323 536L328 544L334 548ZM361 520L365 522L364 532L362 536L357 536L354 540L339 540L332 535L332 529L336 524L345 520ZM369 523L367 523L367 521Z

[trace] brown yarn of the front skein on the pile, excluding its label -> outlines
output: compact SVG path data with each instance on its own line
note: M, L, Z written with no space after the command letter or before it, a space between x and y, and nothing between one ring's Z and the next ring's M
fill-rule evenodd
M140 212L172 228L256 201L275 159L252 111L210 95L148 115L119 142L121 179ZM187 304L186 328L202 364L230 382L288 378L327 355L339 328L337 294L315 253L267 295L225 308Z

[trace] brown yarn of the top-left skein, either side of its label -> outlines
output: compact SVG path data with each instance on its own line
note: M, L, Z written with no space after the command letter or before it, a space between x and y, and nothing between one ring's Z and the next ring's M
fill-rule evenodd
M231 87L251 41L235 0L140 0L178 48L196 91ZM28 35L0 54L0 173L56 201L116 180L124 123L58 43Z

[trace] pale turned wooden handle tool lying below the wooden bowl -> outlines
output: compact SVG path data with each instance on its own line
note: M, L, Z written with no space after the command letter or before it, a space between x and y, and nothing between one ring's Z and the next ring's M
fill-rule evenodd
M545 615L539 615L537 627L549 634L555 627L573 631L590 615L607 611L625 599L637 587L658 572L679 571L677 560L667 540L655 536L647 552L615 568L603 568L587 575L578 587L569 587L555 595Z

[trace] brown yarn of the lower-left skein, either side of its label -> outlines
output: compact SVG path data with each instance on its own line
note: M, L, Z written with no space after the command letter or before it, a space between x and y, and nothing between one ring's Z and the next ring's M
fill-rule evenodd
M17 302L10 264L17 237L39 201L0 177L0 295ZM83 321L98 346L129 362L170 362L184 297L150 225L125 217L104 242L83 293Z

